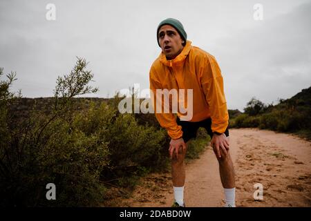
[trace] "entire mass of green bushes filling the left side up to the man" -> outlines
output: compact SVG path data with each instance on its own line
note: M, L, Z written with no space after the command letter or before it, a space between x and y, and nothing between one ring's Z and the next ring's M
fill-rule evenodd
M131 187L140 175L167 165L163 129L121 115L117 99L100 105L74 99L97 92L88 85L93 74L86 64L78 58L57 78L47 106L33 104L21 118L13 107L25 101L10 92L15 75L0 82L1 206L98 206L111 180ZM48 183L56 186L56 200L46 200Z

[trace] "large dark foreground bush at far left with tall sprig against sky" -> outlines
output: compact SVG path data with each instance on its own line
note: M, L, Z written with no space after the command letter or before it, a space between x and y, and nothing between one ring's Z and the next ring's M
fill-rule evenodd
M1 70L1 75L3 69ZM1 206L92 206L102 200L100 173L109 164L108 145L76 128L73 97L95 93L86 61L77 59L70 74L58 77L53 110L35 108L19 122L10 106L15 76L1 81ZM57 200L46 200L46 184L57 187Z

